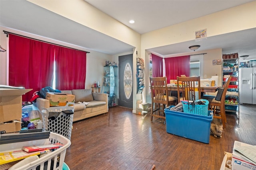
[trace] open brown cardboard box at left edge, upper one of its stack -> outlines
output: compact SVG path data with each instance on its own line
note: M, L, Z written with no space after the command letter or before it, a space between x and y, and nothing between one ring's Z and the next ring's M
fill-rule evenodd
M0 122L21 118L22 95L30 90L0 88Z

